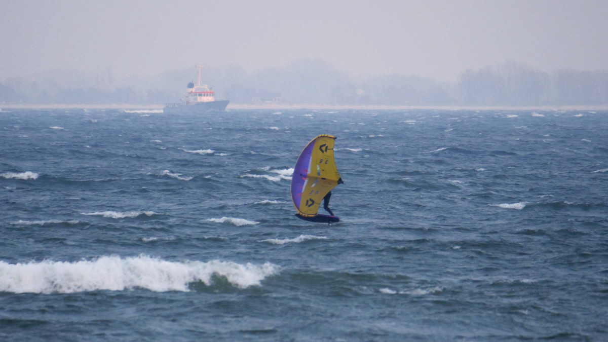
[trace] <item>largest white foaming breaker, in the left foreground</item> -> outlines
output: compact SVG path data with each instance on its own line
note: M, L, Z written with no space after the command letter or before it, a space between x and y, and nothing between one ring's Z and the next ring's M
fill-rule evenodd
M97 290L189 291L192 282L211 285L213 276L226 277L235 287L260 286L278 273L272 263L254 265L211 260L171 262L150 256L102 256L77 262L7 263L0 261L0 291L11 293L75 293Z

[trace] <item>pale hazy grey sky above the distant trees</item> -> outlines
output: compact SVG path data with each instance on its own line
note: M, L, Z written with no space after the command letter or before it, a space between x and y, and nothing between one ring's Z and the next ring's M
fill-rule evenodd
M608 69L608 1L0 0L0 80L58 68L154 75L320 58L353 77L455 80L517 61Z

